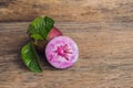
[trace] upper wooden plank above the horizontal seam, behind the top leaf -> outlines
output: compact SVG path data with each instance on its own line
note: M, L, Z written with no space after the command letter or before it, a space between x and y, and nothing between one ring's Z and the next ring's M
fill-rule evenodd
M131 22L133 0L0 0L0 21Z

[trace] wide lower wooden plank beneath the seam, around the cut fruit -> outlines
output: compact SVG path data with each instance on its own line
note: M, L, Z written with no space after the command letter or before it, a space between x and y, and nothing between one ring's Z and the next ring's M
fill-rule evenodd
M65 70L42 61L43 73L27 69L20 48L28 22L0 23L0 88L133 88L133 23L58 22L79 45L78 63Z

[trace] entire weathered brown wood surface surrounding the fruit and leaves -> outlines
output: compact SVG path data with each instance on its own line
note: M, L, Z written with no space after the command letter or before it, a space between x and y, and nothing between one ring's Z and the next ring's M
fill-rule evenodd
M40 15L78 43L73 67L23 65L28 21ZM133 88L133 0L0 0L0 88Z

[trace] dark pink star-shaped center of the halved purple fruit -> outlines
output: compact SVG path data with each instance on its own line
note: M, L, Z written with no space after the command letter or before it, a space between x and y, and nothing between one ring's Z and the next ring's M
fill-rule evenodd
M70 52L68 44L58 46L54 53L57 53L61 57L64 57L66 61L69 61L69 54L72 54L72 52Z

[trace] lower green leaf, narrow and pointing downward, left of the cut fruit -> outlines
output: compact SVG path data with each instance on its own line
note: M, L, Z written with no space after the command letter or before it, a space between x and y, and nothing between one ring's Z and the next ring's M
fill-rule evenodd
M22 47L21 56L22 56L23 63L27 65L27 67L30 70L34 73L42 72L42 68L39 64L39 56L35 52L35 47L32 42L29 42Z

